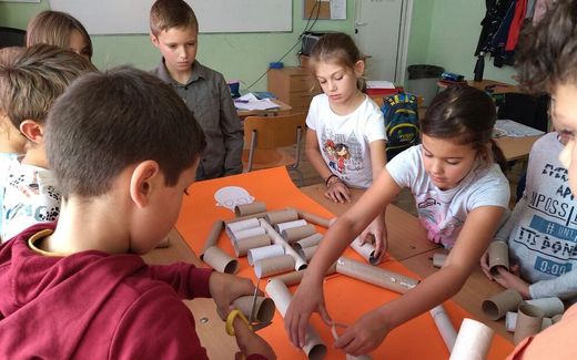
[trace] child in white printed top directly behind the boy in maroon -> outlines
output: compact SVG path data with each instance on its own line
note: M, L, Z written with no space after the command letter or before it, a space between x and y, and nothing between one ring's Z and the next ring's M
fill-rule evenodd
M70 82L89 71L95 68L82 56L47 44L30 47L11 64L0 65L0 103L28 142L26 155L12 162L4 175L3 241L30 225L57 219L60 191L45 160L44 119Z

